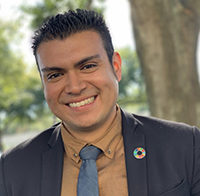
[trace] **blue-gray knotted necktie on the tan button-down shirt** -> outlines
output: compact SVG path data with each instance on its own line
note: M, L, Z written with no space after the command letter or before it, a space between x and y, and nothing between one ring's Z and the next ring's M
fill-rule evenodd
M85 146L80 151L82 164L78 176L77 196L99 195L96 159L100 152L95 146Z

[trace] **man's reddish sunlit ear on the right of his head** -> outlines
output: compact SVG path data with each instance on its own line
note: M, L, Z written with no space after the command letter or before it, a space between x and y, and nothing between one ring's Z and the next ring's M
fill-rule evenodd
M118 52L114 52L113 54L113 68L117 77L117 81L119 82L122 79L122 60Z

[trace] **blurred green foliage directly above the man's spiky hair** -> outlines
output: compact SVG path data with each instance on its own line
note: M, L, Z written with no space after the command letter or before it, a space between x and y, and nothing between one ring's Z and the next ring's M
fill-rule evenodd
M70 9L93 9L102 12L105 0L97 2L99 3L98 7L93 5L93 0L43 0L33 6L22 6L21 9L24 13L32 16L31 28L37 29L50 16Z

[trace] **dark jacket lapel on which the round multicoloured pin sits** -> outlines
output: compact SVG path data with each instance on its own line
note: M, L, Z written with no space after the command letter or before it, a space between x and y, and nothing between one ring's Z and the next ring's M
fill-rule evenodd
M137 159L133 152L136 148L145 147L145 136L138 131L138 122L131 114L122 111L122 133L124 137L124 149L128 180L129 196L147 196L147 159Z

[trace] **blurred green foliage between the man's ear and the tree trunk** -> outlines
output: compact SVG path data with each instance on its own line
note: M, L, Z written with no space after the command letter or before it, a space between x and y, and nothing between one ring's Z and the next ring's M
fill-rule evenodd
M128 47L118 51L122 58L118 103L120 105L146 103L145 82L136 52Z

